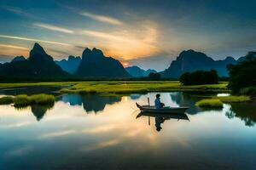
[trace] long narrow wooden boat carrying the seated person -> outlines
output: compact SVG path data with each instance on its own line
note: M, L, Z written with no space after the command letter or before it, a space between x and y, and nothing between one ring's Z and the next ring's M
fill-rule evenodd
M160 109L155 109L153 105L138 105L137 107L140 111L148 112L148 113L176 113L176 114L183 114L189 107L163 107Z

